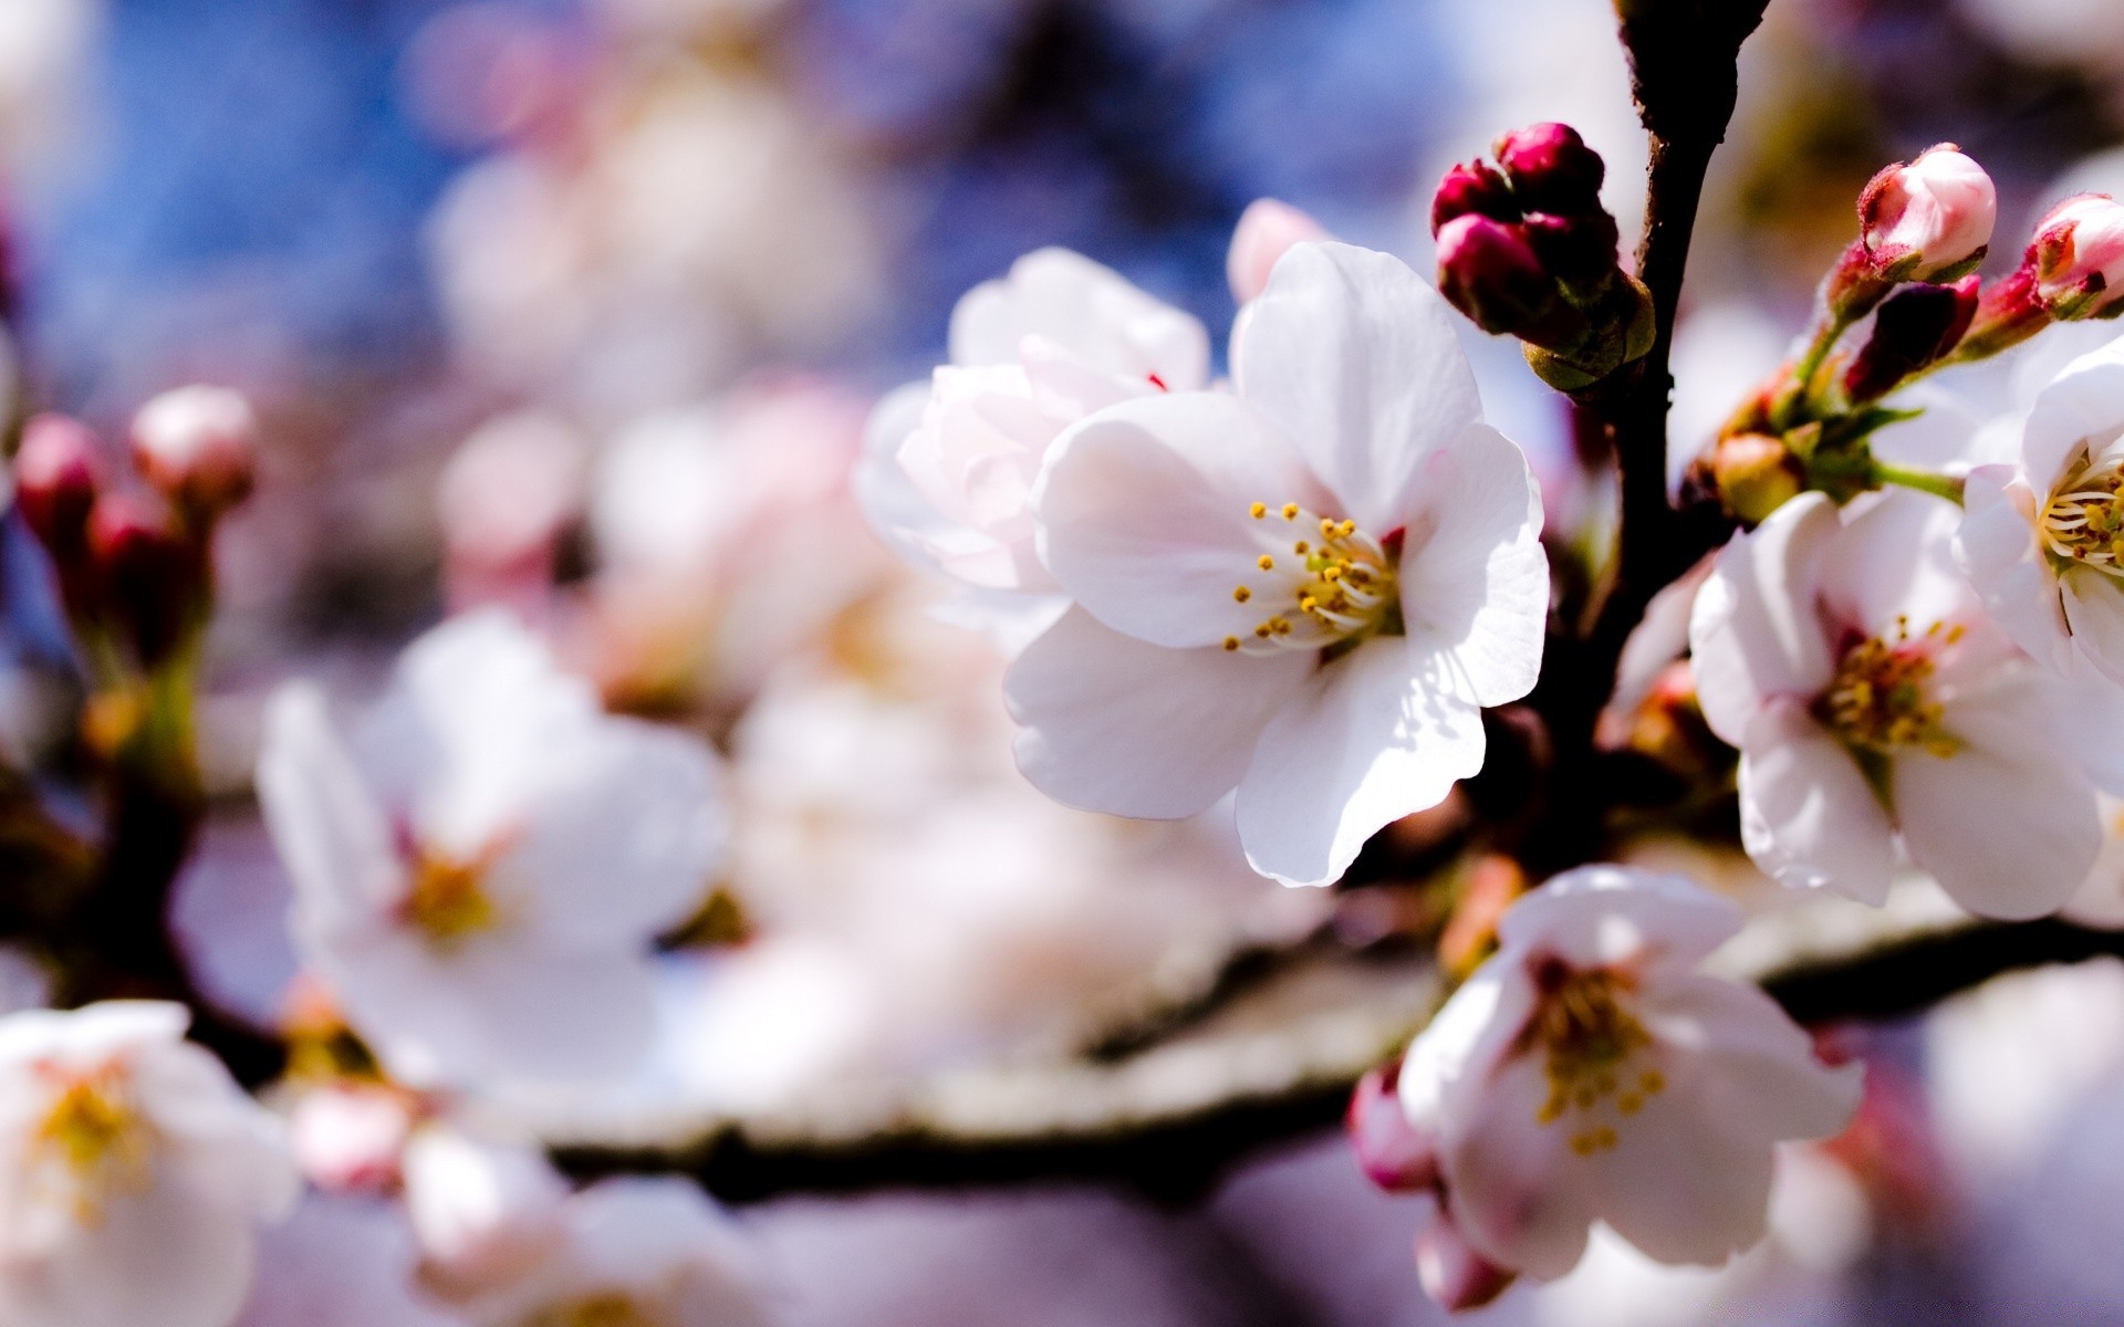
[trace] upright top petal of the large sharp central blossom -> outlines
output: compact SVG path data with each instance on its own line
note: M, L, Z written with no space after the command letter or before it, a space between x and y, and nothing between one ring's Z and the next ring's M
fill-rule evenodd
M1294 244L1251 310L1238 393L1359 527L1391 531L1423 459L1483 412L1453 310L1404 261L1334 242Z

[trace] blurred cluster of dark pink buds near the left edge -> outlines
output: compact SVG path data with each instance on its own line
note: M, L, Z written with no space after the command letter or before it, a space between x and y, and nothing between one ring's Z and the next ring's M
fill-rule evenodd
M125 648L153 673L206 620L208 548L251 493L257 420L234 391L187 386L134 416L130 450L138 484L119 480L87 425L40 414L23 427L15 488L83 643Z

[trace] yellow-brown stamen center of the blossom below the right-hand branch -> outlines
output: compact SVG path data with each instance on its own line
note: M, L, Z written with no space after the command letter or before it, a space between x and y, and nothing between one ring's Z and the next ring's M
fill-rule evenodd
M1542 1055L1548 1074L1548 1100L1534 1121L1553 1125L1572 1117L1572 1151L1591 1157L1614 1147L1616 1121L1642 1110L1644 1098L1665 1091L1667 1076L1648 1064L1652 1034L1623 1004L1627 977L1580 972L1544 958L1534 983L1542 1002L1521 1045Z

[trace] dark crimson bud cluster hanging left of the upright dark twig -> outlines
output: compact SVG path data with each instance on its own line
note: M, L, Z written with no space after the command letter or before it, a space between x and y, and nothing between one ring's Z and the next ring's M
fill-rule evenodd
M1604 166L1570 125L1534 125L1438 183L1438 289L1483 331L1517 335L1557 391L1582 391L1652 348L1652 299L1616 261Z

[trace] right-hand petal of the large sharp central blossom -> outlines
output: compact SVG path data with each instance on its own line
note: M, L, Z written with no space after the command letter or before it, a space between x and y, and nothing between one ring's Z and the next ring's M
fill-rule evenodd
M1489 425L1470 425L1417 476L1404 518L1402 620L1446 652L1478 705L1534 690L1548 633L1542 488L1527 456Z

